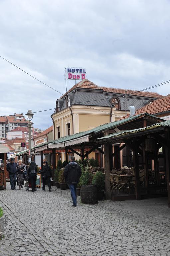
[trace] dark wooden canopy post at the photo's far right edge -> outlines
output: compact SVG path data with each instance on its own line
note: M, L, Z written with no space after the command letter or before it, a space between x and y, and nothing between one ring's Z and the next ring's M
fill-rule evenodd
M170 136L169 131L165 132L165 138L168 146L165 147L165 161L166 161L166 183L168 193L168 206L170 207Z

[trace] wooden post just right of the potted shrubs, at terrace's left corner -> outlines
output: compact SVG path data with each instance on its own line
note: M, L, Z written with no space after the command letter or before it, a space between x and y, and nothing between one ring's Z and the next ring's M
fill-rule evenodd
M105 172L105 192L106 200L111 199L110 191L110 159L109 159L109 143L104 143L104 172Z

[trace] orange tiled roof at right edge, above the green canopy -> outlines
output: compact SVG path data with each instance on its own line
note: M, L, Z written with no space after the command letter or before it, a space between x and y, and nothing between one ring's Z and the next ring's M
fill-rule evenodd
M149 114L158 114L166 111L170 111L170 94L163 97L162 99L154 100L146 106L138 109L136 114L143 112L147 112Z

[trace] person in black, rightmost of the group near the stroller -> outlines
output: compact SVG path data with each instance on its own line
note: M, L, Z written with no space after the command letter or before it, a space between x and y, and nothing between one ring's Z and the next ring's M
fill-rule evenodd
M43 189L42 190L45 190L46 181L47 181L49 191L51 192L51 168L48 165L47 161L43 162L43 169L40 170L40 173L42 174L42 181L43 181Z

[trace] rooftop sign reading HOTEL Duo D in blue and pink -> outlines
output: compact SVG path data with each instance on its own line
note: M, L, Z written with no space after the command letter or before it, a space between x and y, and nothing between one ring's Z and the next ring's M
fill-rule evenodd
M85 68L68 67L65 68L66 79L83 80L86 76Z

